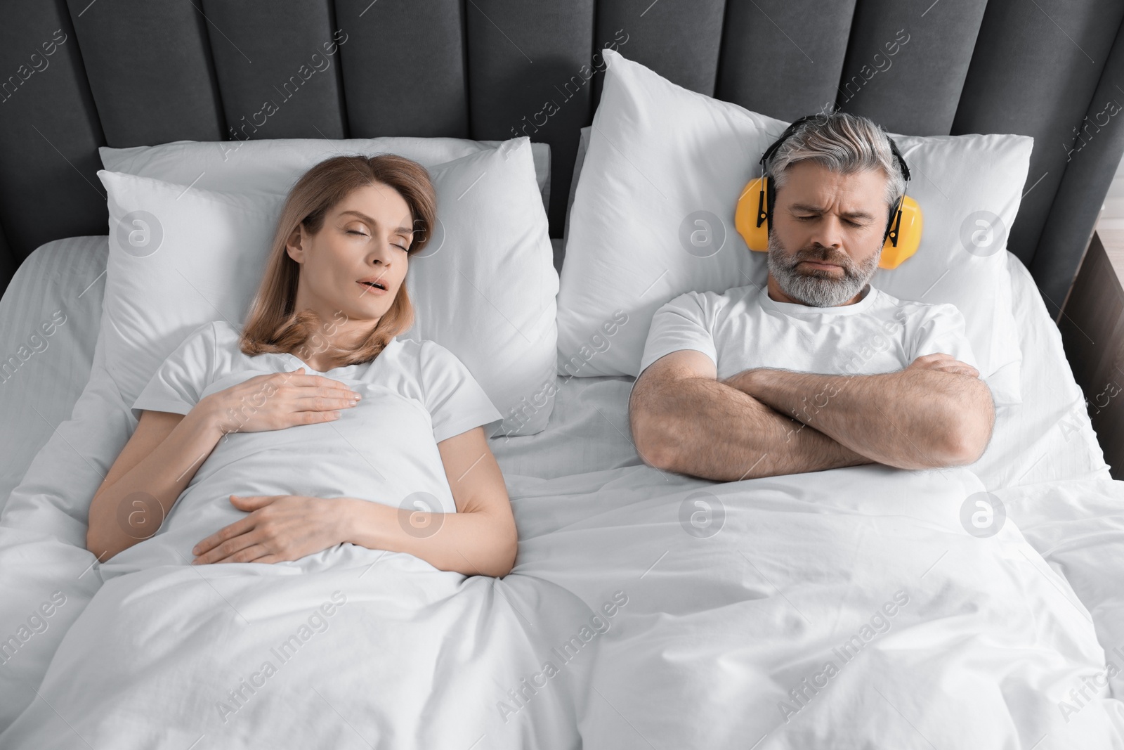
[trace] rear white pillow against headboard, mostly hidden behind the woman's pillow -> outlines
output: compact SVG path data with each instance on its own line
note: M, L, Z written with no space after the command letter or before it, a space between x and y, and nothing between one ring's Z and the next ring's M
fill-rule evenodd
M101 163L110 172L151 177L164 182L192 184L200 190L287 195L314 164L337 154L398 154L423 166L444 164L501 141L464 138L278 138L265 141L174 141L158 146L110 148L101 146ZM550 210L551 147L531 144L535 180Z

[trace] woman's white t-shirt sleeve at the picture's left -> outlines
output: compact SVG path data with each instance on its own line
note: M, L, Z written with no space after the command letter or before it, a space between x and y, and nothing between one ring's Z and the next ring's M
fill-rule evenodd
M139 421L140 412L146 409L173 414L190 412L210 385L215 360L215 324L205 323L167 355L134 401L133 415Z

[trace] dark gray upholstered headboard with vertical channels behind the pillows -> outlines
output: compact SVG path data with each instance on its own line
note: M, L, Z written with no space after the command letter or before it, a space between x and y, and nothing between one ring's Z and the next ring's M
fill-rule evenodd
M3 10L0 288L38 245L106 233L98 146L228 139L265 100L278 110L251 137L546 142L561 236L578 130L600 93L601 75L586 82L582 66L599 67L595 52L614 40L681 85L772 117L836 102L891 132L1034 136L1008 247L1054 314L1124 152L1121 0L9 0ZM336 29L346 43L332 67L283 92Z

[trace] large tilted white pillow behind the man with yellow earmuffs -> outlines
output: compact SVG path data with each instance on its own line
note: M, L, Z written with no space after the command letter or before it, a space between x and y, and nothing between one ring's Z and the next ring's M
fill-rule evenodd
M746 247L734 210L787 123L688 91L611 49L605 57L601 101L566 222L559 370L635 377L652 316L664 302L690 290L765 282L767 254ZM971 233L985 215L1006 227L1014 222L1033 139L895 138L913 172L908 191L924 211L924 234L916 255L879 271L872 283L901 299L955 305L996 401L1018 403L1022 352L1006 233L985 247L971 243ZM710 244L695 246L692 232L707 238L696 232L704 226ZM627 323L609 337L606 322L618 310Z

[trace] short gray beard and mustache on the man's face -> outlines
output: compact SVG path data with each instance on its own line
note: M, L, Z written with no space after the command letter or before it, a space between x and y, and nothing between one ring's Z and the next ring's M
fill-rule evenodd
M865 289L867 282L878 270L881 254L879 249L861 265L843 251L821 245L789 255L777 235L769 233L769 272L786 296L810 307L839 307ZM834 271L824 269L798 271L796 265L801 261L835 263L843 269L843 275L836 279L832 275Z

